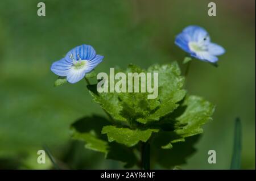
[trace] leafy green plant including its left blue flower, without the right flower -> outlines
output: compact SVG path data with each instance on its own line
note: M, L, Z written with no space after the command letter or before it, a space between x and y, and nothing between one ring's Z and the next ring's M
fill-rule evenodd
M75 83L102 58L89 45L82 45L53 63L51 70L57 75L67 76L68 82ZM127 69L117 72L126 75L125 87L129 87L130 73L137 75L137 78L141 73L158 73L158 96L148 99L151 92L98 92L97 84L91 85L87 80L93 101L107 116L81 117L71 125L72 138L84 141L86 149L98 151L106 159L123 162L125 167L150 169L160 165L171 169L184 164L195 152L193 145L198 140L198 134L203 132L201 126L212 119L213 104L187 93L184 89L185 77L176 62L156 64L148 69L129 65ZM61 81L63 79L57 86L62 85ZM115 85L119 80L114 81ZM141 87L142 82L138 81L137 86Z

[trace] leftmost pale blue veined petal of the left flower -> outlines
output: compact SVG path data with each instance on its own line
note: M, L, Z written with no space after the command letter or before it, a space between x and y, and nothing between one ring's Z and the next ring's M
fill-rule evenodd
M62 58L59 61L53 62L51 71L59 76L67 76L71 67L72 64L66 61L65 58Z

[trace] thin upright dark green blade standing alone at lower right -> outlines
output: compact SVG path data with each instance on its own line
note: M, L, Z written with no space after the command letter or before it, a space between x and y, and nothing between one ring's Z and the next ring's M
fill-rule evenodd
M234 148L232 155L232 162L230 169L241 169L241 152L242 152L242 124L239 117L236 119L235 131L234 131Z

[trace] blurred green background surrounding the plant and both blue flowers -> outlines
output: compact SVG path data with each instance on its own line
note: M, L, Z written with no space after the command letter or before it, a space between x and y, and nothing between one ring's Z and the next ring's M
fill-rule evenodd
M69 125L82 116L104 112L92 103L85 82L53 87L49 68L69 49L92 45L105 56L98 72L134 63L178 61L185 53L175 35L196 24L226 49L219 67L192 62L187 89L217 105L204 126L197 152L182 169L229 169L234 119L242 120L242 169L255 169L255 1L79 0L0 1L0 169L51 169L38 164L37 151L47 145L68 169L118 169L122 163L85 150L69 137ZM217 16L208 16L216 2ZM105 115L104 115L105 116ZM97 124L97 123L95 123ZM217 163L209 164L208 150Z

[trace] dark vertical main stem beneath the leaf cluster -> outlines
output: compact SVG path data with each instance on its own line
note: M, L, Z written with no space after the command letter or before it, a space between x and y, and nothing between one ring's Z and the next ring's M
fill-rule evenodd
M141 169L150 170L150 144L148 141L142 142Z

